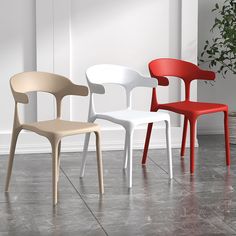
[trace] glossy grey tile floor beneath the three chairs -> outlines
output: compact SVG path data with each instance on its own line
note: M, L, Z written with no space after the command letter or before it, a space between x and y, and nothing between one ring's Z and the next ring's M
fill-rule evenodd
M4 193L7 156L0 157L0 236L3 235L236 235L236 146L225 166L222 136L199 137L195 175L189 150L173 150L174 179L165 150L151 150L146 167L134 152L128 191L121 151L103 153L105 195L98 194L95 153L79 178L81 153L62 154L59 203L52 207L49 154L17 155L10 192Z

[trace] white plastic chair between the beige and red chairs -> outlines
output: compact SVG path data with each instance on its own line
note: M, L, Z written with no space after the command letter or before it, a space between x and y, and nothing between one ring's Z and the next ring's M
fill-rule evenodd
M94 122L96 119L104 119L125 128L125 151L124 151L124 168L128 163L128 186L132 187L132 144L134 128L139 124L150 122L165 121L166 124L166 142L168 150L169 177L172 178L172 155L170 141L170 117L164 112L146 112L131 109L132 99L131 92L136 87L156 87L157 81L152 78L145 78L136 71L118 65L95 65L86 71L88 85L90 88L90 109L88 121ZM105 88L103 84L117 84L126 90L125 110L97 113L94 108L94 94L104 94ZM116 98L117 99L117 98ZM84 176L86 154L88 150L90 135L86 134L84 142L83 162L80 176Z

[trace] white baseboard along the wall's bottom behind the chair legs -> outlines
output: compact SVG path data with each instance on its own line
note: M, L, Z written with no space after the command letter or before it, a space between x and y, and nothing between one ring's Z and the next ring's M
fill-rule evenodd
M122 128L109 127L102 129L101 135L101 145L102 150L123 150L124 148L124 136L125 131ZM146 137L146 127L139 127L135 130L133 148L143 149ZM182 130L180 127L172 127L171 129L171 144L172 148L180 148ZM0 140L2 140L2 145L0 147L0 154L9 153L9 145L11 139L11 132L6 131L0 133ZM189 139L187 139L189 140ZM62 140L62 152L80 152L83 149L84 135L76 135ZM189 141L187 141L186 146L189 147ZM196 147L198 142L196 140ZM160 149L166 147L165 139L165 129L154 128L152 132L152 137L150 141L150 149ZM95 138L94 135L91 136L89 151L95 150ZM50 153L51 147L49 141L37 134L31 132L22 131L19 135L18 143L16 147L17 154L26 153Z

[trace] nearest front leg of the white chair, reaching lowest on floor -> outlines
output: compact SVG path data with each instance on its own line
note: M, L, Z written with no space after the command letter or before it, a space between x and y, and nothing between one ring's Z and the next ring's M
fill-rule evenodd
M132 188L133 171L133 130L127 132L127 150L128 150L128 187Z

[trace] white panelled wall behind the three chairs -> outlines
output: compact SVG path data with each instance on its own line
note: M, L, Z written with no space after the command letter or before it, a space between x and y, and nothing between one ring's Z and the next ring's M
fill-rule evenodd
M186 60L195 61L196 13L197 0L2 1L0 153L8 153L11 138L14 107L9 89L10 76L38 69L63 74L74 82L86 84L84 70L90 64L123 64L148 74L147 62L156 57L182 55ZM121 94L118 90L111 91L118 96ZM196 97L196 89L194 91ZM182 86L172 83L169 88L159 88L158 95L163 102L179 99ZM141 89L134 96L136 108L149 108L148 91ZM41 95L37 99L35 95L32 97L33 104L22 109L23 116L30 121L52 118L55 113L52 100ZM104 109L103 100L99 101L99 108ZM123 104L122 100L115 102L115 108ZM86 120L87 105L88 98L68 98L63 108L65 118ZM114 107L109 103L106 108ZM173 146L179 147L182 131L176 115L172 116L172 126ZM145 128L142 126L135 133L135 148L143 147ZM124 131L120 127L106 123L102 132L103 149L123 148ZM163 128L154 132L153 147L165 147L164 133ZM77 151L82 146L83 136L80 136L66 139L62 148ZM94 145L90 147L94 148ZM20 135L18 153L48 151L50 145L46 139L29 132Z

